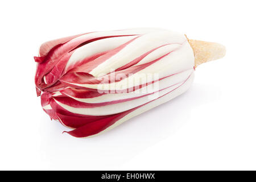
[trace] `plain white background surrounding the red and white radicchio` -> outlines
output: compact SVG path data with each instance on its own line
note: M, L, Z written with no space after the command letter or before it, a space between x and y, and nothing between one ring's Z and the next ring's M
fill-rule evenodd
M0 169L256 169L255 1L1 1ZM47 40L159 27L226 46L191 89L96 138L77 139L36 97Z

